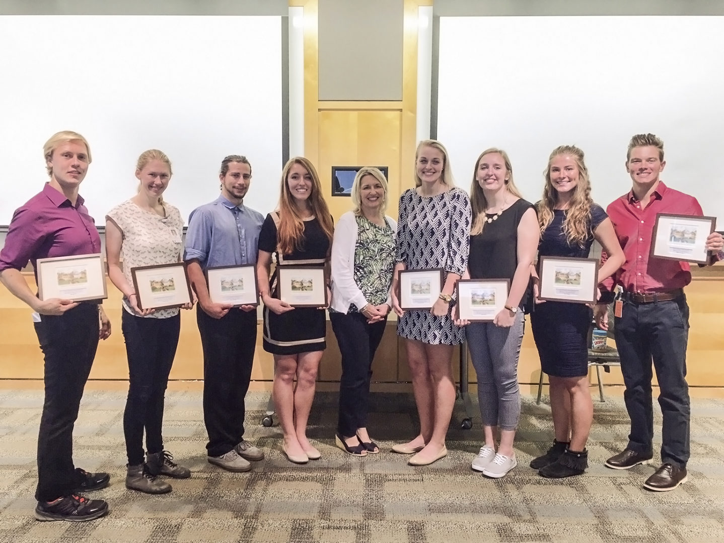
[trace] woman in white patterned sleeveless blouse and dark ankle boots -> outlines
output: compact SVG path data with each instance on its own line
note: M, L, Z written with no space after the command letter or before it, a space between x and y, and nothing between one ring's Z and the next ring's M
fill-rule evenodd
M161 424L164 393L180 333L178 309L140 309L131 270L181 260L183 219L161 194L171 179L171 162L159 150L140 155L135 176L138 194L106 215L108 275L123 293L122 330L130 387L123 414L128 455L126 487L148 494L171 492L158 475L185 479L191 472L164 450ZM122 260L122 265L121 265ZM188 304L184 309L190 309ZM146 461L143 458L146 429Z

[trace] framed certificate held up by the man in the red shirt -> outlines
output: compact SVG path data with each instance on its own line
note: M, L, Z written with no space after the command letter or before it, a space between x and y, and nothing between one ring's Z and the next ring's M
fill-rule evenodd
M694 217L657 213L651 240L652 258L685 260L707 264L707 236L714 231L716 217Z

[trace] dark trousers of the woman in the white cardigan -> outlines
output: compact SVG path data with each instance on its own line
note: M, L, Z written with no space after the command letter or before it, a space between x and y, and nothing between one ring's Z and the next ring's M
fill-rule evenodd
M361 313L333 312L329 313L329 320L342 354L337 432L342 437L352 437L358 428L367 427L372 360L382 341L387 320L369 325Z

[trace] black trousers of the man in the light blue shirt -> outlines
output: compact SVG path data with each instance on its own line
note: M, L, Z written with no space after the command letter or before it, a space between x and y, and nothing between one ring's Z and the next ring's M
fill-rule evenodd
M196 307L203 347L203 422L209 456L222 456L244 435L244 397L249 390L256 348L256 311L231 309L209 317Z

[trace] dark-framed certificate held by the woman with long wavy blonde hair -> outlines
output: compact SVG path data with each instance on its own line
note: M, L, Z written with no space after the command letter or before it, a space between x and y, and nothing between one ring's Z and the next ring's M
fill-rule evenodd
M595 258L540 257L539 298L551 302L595 304L598 260Z

